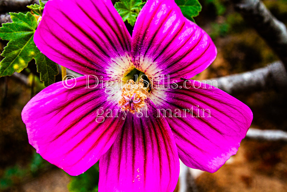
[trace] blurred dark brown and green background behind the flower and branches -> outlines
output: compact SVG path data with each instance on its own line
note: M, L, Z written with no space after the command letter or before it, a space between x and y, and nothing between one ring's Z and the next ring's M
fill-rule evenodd
M194 79L266 69L267 64L280 60L265 39L236 12L232 2L199 2L202 11L194 18L195 22L212 37L218 55ZM262 2L278 20L287 24L287 0ZM24 6L20 11L25 10ZM1 11L3 20L5 12L15 10ZM0 40L1 52L6 44L7 41ZM36 65L31 62L21 73L25 78L0 78L0 191L97 191L97 164L80 176L69 176L42 159L28 143L21 111L44 88L35 70ZM284 72L284 68L282 70ZM61 74L56 79L61 80ZM239 89L241 91L231 94L253 111L251 128L287 131L287 92L284 87L270 82L260 89ZM286 138L272 140L249 136L242 140L238 153L216 173L191 170L191 174L190 191L287 191ZM178 187L175 191L179 191Z

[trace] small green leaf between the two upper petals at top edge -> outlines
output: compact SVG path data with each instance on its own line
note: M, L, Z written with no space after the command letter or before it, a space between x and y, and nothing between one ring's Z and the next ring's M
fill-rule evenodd
M127 20L131 26L134 26L135 20L145 3L141 0L120 0L115 3L115 8L124 22Z

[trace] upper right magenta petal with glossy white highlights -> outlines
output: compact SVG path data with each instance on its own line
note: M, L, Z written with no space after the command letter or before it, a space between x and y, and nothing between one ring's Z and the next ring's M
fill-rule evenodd
M136 68L171 79L197 75L217 54L211 38L183 16L174 0L146 3L135 23L132 52Z

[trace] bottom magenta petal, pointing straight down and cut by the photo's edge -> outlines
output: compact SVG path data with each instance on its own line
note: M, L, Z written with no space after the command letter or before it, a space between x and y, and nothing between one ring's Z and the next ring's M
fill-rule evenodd
M151 107L151 106L150 106ZM179 157L164 118L129 113L117 140L100 159L99 191L173 191L179 176Z

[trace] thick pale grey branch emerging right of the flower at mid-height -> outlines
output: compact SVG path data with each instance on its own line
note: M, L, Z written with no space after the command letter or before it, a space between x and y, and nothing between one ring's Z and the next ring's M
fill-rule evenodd
M228 94L236 95L276 88L285 90L287 87L287 73L282 62L273 62L266 67L255 69L241 74L209 79L209 83Z

